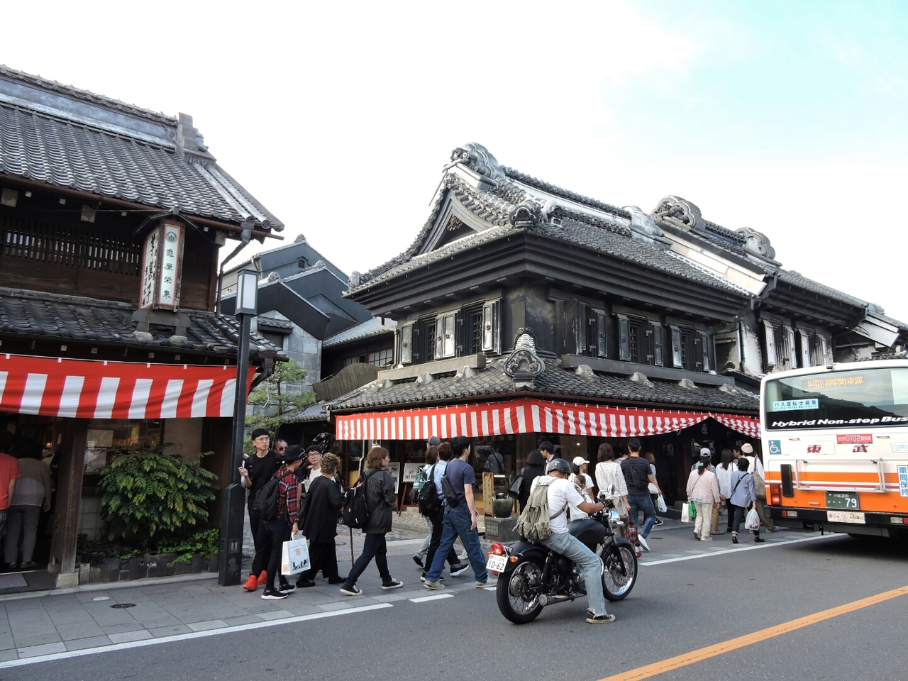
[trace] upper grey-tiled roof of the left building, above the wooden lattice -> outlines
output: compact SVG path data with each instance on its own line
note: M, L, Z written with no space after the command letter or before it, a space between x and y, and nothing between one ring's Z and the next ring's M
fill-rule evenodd
M252 216L258 225L283 228L201 141L183 151L176 118L3 66L0 75L24 84L26 94L50 90L56 104L0 92L0 173L223 222L239 224ZM108 109L123 115L112 120ZM123 127L130 117L153 124Z

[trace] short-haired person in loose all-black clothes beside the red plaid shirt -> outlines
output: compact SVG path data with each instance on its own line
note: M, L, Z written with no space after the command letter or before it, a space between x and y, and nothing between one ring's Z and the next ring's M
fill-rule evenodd
M300 573L297 587L314 587L315 576L321 570L328 576L329 584L341 584L338 575L337 537L338 511L341 508L341 485L334 479L338 458L325 454L321 458L321 471L309 484L309 493L302 504L302 534L309 539L310 568Z

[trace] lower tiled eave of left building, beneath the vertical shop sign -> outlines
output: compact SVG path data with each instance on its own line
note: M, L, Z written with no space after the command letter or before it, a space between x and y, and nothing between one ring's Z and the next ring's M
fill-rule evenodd
M0 288L0 333L84 342L111 342L150 347L167 347L194 352L236 354L240 323L228 315L182 310L192 324L185 341L171 341L173 327L152 324L151 340L136 337L133 312L137 307L117 301L64 296L54 293ZM269 351L286 354L258 334L252 334L250 354Z

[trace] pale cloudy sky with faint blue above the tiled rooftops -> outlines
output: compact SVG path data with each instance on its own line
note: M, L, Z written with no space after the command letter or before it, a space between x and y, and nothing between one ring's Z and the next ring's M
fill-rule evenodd
M908 321L905 3L83 0L4 24L0 63L191 114L283 235L347 272L403 252L478 142L618 206L682 196Z

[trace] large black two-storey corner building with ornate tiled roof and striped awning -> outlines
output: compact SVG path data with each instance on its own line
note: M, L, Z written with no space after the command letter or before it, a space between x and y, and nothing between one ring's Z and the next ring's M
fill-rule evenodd
M667 196L646 213L539 181L479 144L445 165L410 247L347 295L397 322L395 366L329 402L355 459L400 468L466 435L509 471L540 439L567 459L643 439L669 503L691 454L757 444L766 372L890 351L905 324L786 271L765 234ZM412 467L410 467L412 468Z

